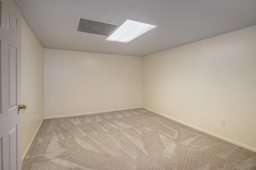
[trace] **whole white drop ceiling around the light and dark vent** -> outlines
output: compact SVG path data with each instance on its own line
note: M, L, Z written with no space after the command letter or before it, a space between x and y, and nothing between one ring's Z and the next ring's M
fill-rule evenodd
M256 0L14 0L45 48L145 56L256 25ZM80 19L156 25L129 43L77 31ZM114 30L115 30L114 29ZM110 33L111 34L111 33Z

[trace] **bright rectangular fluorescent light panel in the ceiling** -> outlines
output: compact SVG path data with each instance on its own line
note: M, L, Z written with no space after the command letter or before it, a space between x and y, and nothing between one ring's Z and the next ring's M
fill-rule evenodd
M112 33L106 40L117 41L121 43L128 43L136 37L144 34L150 29L156 27L147 23L126 20L114 33Z

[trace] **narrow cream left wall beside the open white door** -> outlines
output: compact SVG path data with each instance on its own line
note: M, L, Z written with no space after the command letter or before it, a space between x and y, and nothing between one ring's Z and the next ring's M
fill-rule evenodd
M22 161L44 119L44 48L22 18ZM38 118L39 117L39 118Z

